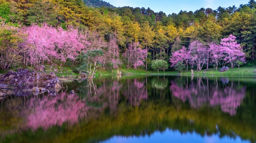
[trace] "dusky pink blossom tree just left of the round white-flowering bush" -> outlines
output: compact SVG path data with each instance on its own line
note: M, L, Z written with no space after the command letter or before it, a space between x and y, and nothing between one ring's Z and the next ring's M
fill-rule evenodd
M131 43L124 53L124 56L128 61L127 68L129 69L131 66L133 66L135 69L137 69L137 67L144 65L146 55L146 49L141 49L139 47L139 43Z

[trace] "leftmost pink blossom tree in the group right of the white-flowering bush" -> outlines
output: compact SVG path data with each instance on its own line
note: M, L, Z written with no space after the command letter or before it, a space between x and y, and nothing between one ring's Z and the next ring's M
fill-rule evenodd
M191 58L190 51L187 50L185 47L182 47L182 49L177 50L172 53L170 57L170 62L172 63L171 67L175 67L175 65L178 64L178 62L186 63L186 70L188 70L188 62Z

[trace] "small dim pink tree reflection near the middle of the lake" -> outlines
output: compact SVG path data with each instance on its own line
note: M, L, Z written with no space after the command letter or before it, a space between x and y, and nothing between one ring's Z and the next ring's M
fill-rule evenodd
M124 90L125 97L129 100L130 104L139 106L139 102L148 98L148 92L143 82L135 79L133 82L127 80L128 86Z

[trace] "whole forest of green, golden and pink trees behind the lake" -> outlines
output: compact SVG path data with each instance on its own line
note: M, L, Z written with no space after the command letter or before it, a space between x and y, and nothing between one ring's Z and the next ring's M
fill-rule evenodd
M0 0L0 70L61 68L67 62L74 72L91 73L98 67L201 71L256 66L254 0L170 15L85 2Z

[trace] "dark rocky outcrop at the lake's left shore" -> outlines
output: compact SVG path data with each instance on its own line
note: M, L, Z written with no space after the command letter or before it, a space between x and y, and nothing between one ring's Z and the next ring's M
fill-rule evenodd
M38 87L44 91L55 91L61 88L58 77L52 72L50 74L30 72L29 69L18 69L17 72L9 71L7 74L0 76L0 89L7 89L8 86L15 87L19 92L27 91ZM35 89L35 91L37 91ZM40 91L41 92L41 91ZM36 92L38 93L38 92Z

